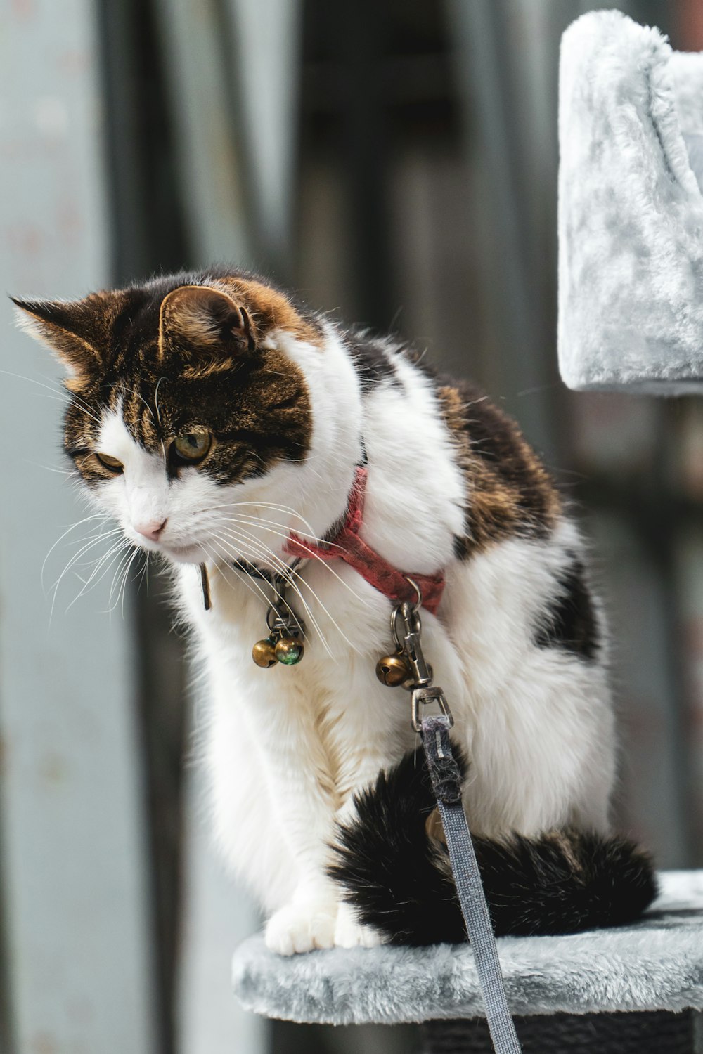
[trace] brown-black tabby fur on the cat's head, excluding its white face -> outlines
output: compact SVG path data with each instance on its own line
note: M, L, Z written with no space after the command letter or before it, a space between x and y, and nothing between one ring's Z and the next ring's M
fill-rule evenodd
M159 344L161 305L181 287L202 289L204 298L208 290L218 290L214 301L229 296L245 309L251 339L230 327L214 340L203 324L199 334L197 327L185 326L189 339L181 327ZM91 451L101 413L120 404L133 437L159 455L168 454L175 435L198 426L210 429L215 441L201 469L220 483L262 475L279 460L306 456L312 419L302 373L262 344L273 330L284 329L319 346L321 331L314 316L277 290L250 276L210 272L164 276L74 304L16 302L74 370L66 385L74 398L64 443L89 483L110 476Z

